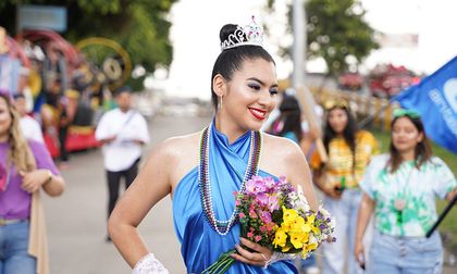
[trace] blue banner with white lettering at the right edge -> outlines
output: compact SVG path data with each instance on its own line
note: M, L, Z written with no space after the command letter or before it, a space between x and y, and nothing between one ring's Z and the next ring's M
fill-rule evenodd
M427 136L457 153L457 57L391 101L418 111Z

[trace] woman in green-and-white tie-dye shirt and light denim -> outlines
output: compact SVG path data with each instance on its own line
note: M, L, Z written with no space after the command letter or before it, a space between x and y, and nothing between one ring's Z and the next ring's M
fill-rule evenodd
M366 263L361 238L374 213L368 273L442 273L440 235L425 235L437 219L435 197L456 196L455 176L433 157L419 113L396 110L391 138L390 152L371 161L360 183L355 256Z

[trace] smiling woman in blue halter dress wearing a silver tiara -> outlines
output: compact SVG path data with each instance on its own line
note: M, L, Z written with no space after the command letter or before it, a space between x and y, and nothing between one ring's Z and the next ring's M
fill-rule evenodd
M254 21L245 27L222 27L222 52L211 75L217 110L212 123L202 132L158 145L111 214L109 233L134 273L168 273L137 231L149 210L168 195L188 273L201 273L233 247L237 262L227 273L298 273L293 262L240 238L235 217L233 192L252 174L286 176L291 184L301 185L317 209L300 148L259 132L277 94L275 63L261 47L261 38Z

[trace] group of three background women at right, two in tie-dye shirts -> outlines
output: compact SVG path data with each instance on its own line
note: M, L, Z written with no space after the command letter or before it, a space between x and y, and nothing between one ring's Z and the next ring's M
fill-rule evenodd
M302 129L293 94L280 101L280 114L265 130L301 144L319 137L319 132ZM435 198L452 201L457 184L433 155L420 114L397 109L390 150L380 154L374 136L357 128L348 101L332 99L322 107L328 160L312 150L309 166L336 220L337 239L322 247L322 273L442 273L440 235L427 234L437 220ZM300 263L305 273L313 273L313 265L312 257Z

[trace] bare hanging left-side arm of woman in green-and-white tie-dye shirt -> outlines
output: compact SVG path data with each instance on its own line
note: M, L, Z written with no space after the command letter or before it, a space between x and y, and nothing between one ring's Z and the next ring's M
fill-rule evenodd
M356 260L361 267L365 267L363 235L373 213L375 202L363 192L359 205L359 216L357 219L356 248L354 250Z

